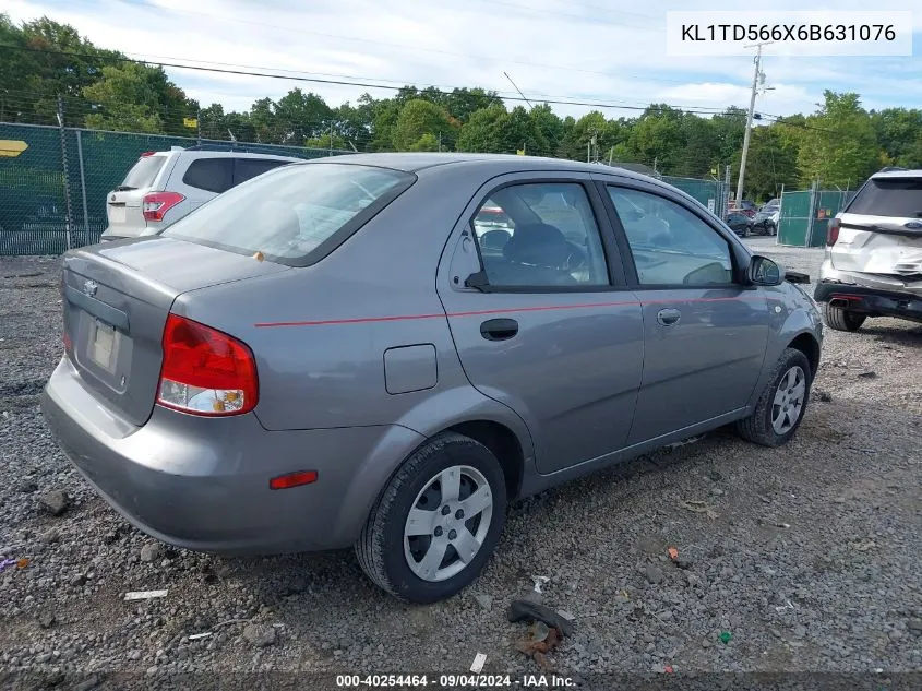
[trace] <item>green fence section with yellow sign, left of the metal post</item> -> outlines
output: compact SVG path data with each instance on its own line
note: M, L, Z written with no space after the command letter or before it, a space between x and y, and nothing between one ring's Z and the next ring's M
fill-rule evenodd
M0 123L0 254L63 252L67 198L60 130Z

